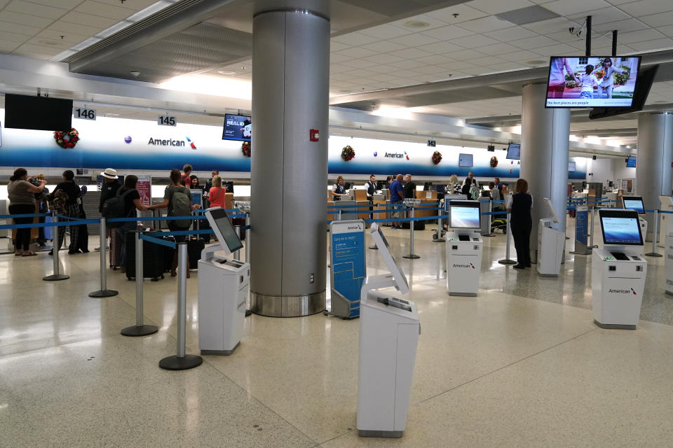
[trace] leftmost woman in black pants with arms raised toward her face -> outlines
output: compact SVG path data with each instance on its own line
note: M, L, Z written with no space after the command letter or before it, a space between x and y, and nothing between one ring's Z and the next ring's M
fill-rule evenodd
M34 186L28 180L28 172L25 168L14 170L9 178L7 196L9 198L9 214L29 215L35 213L35 194L41 193L46 181L39 181L40 186ZM13 218L15 224L30 224L33 218ZM17 229L14 240L14 255L31 257L37 255L30 251L30 229Z

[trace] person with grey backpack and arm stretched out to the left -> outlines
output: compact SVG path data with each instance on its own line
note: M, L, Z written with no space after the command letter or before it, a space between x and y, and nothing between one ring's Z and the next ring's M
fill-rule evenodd
M189 216L192 211L198 209L198 204L191 203L191 194L189 189L182 185L182 178L179 169L172 169L170 171L170 185L166 187L163 193L163 202L161 204L154 204L148 207L151 210L165 209L168 207L168 216ZM171 232L179 232L182 230L189 230L191 225L191 217L187 219L168 221L168 230ZM175 242L184 243L186 237L184 235L176 235ZM173 251L173 262L170 266L170 276L177 275L177 251ZM187 278L189 279L189 258L187 258Z

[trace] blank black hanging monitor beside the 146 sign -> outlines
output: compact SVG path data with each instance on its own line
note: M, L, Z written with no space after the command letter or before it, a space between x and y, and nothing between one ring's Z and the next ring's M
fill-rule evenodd
M72 99L5 95L5 127L40 131L69 131Z

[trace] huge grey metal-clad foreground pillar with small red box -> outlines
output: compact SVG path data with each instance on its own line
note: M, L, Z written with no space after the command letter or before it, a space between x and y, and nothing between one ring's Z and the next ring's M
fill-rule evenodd
M325 309L329 2L256 1L252 38L250 309L306 316Z

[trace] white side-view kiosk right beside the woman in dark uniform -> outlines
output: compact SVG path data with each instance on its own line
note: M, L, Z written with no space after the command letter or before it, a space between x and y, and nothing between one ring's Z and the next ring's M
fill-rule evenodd
M544 198L551 218L543 218L538 225L538 274L557 276L561 272L563 248L566 244L566 229L552 207Z

